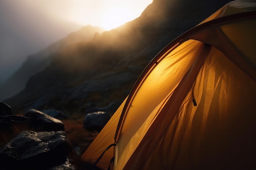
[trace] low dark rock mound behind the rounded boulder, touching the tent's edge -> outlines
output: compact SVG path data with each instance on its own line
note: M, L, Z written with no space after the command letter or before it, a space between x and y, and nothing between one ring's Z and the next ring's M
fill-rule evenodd
M102 112L107 112L108 114L114 114L115 111L121 105L121 103L122 102L120 102L120 101L116 101L116 102L110 103L106 107L92 107L92 108L88 108L87 110L85 110L85 113L94 113L94 112L97 112L97 111L102 111Z

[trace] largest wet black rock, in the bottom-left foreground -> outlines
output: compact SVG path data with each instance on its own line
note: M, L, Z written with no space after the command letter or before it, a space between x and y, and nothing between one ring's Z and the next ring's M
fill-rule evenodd
M42 169L65 163L72 144L65 132L22 131L0 150L1 167Z

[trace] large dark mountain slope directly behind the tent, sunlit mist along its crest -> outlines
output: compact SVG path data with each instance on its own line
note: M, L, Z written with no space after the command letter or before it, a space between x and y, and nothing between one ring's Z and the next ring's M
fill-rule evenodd
M56 108L73 115L92 103L123 101L164 46L229 1L153 0L139 18L52 55L22 92L4 102L20 111Z

